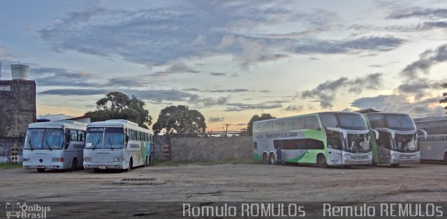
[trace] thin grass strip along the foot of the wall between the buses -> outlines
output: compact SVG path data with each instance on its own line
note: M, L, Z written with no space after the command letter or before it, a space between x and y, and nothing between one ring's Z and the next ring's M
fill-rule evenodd
M156 167L175 167L180 165L222 165L222 164L260 164L257 160L155 160Z

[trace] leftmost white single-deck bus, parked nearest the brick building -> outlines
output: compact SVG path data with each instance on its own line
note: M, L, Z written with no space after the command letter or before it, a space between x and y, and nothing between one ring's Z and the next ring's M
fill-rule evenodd
M23 168L71 169L82 167L87 123L60 120L28 125L23 147Z

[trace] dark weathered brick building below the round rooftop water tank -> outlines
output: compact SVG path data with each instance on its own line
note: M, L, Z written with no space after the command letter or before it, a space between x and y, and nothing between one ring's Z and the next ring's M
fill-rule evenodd
M29 123L36 122L36 82L27 80L0 81L0 137L24 137Z

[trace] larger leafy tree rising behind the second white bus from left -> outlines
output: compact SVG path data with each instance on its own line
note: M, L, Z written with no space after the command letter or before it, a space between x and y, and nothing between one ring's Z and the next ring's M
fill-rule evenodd
M143 128L149 128L152 116L144 107L145 102L135 96L129 98L124 93L112 91L96 102L95 111L86 112L84 116L90 116L91 121L126 119L138 123Z

